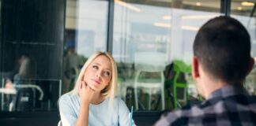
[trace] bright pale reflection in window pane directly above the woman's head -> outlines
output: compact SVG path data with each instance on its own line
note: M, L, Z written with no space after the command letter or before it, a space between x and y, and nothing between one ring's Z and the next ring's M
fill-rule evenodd
M66 43L73 41L77 54L84 57L105 51L108 2L67 0L66 4Z

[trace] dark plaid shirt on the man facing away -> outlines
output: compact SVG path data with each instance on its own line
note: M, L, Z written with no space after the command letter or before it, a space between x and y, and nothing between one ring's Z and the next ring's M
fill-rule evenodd
M256 125L256 98L241 85L228 85L214 91L199 106L165 114L155 125Z

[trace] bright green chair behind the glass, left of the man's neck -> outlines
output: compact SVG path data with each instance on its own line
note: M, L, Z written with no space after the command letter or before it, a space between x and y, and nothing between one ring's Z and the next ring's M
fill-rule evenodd
M190 65L186 65L183 61L175 60L174 63L174 72L175 76L173 78L173 98L174 98L174 107L177 108L179 105L179 102L187 102L188 94L187 94L187 87L188 83L179 81L179 76L181 76L182 73L189 74L191 73L191 67ZM177 89L183 88L183 98L178 98Z

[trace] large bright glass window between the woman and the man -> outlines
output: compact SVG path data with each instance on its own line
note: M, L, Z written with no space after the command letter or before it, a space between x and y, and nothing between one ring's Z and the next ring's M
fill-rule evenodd
M201 25L219 12L219 0L115 0L113 56L119 69L118 94L127 106L139 110L182 106L188 96L183 88L174 93L171 87L178 73L175 67L186 72L177 81L188 84L190 95L198 97L190 77L192 44Z

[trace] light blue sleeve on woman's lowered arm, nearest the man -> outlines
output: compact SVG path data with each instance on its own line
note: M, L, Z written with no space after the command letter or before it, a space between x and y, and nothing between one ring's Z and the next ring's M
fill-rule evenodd
M126 106L126 103L122 101L121 98L118 98L119 103L119 124L120 126L129 126L130 124L130 111ZM132 126L136 126L134 120L132 120Z

